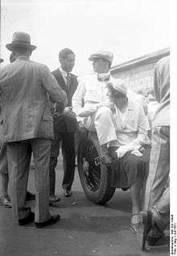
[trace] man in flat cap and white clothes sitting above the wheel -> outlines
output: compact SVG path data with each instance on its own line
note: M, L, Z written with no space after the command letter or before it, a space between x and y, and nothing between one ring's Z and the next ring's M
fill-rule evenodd
M109 69L113 61L113 53L108 51L95 52L91 54L88 60L93 61L94 73L80 81L72 97L73 111L76 112L80 132L84 131L84 128L96 131L97 124L101 121L101 115L105 115L101 113L101 107L110 106L107 82L112 78ZM97 135L99 133L101 134L101 131L97 131ZM110 164L111 157L106 143L101 143L99 135L98 140L100 142L101 160L105 164ZM113 143L110 145L111 147L114 146Z

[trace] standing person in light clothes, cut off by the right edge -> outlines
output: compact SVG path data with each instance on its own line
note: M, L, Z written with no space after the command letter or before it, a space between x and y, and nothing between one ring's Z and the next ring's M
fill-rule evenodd
M142 223L142 250L146 240L155 246L169 224L170 189L170 57L164 57L154 69L154 91L159 107L154 115L150 170L146 181Z

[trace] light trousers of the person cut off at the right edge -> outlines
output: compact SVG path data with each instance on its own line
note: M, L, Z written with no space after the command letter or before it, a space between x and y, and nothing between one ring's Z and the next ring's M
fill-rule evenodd
M170 127L155 127L150 152L150 170L146 181L144 209L153 209L158 229L163 231L169 223L170 190Z

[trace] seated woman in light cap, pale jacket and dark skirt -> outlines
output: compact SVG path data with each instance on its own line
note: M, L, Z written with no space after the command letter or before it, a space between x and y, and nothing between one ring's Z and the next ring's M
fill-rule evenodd
M126 82L121 79L109 82L109 99L115 106L112 119L117 134L117 149L109 153L113 158L119 158L118 167L121 177L130 187L132 198L131 225L136 229L141 219L141 195L144 178L148 173L150 139L147 136L150 129L147 116L142 107L127 97ZM112 148L113 149L113 148ZM115 162L115 161L114 161ZM116 166L114 166L116 169ZM123 172L123 174L122 174Z

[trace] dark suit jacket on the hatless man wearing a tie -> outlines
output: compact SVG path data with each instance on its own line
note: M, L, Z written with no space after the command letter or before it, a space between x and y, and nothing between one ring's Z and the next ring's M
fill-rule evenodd
M68 107L72 106L72 95L75 93L78 82L76 75L71 73L71 84L69 89L66 86L66 83L64 81L63 75L60 72L60 69L56 69L53 72L51 72L54 77L56 78L56 81L59 83L61 88L66 92L68 97ZM57 122L57 132L76 132L78 129L77 121L75 118L71 118L68 115L60 115L56 117ZM54 120L55 121L55 120Z

